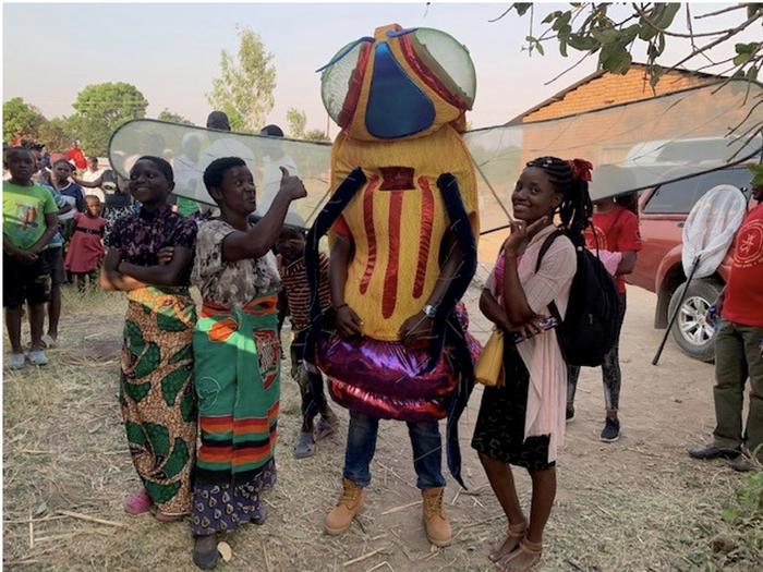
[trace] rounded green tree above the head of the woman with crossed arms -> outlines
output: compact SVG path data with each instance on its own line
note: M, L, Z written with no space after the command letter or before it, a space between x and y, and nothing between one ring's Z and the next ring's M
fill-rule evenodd
M72 104L72 133L87 155L106 155L109 137L125 121L146 117L148 101L134 85L105 83L86 86Z

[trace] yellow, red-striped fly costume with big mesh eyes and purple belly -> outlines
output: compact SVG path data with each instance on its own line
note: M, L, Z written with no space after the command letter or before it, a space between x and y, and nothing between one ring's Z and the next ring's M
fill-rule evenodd
M342 48L322 70L323 100L342 127L331 151L331 198L310 231L315 363L334 400L377 418L448 417L448 465L461 483L457 422L473 387L479 343L460 303L476 269L476 180L461 137L475 95L468 50L448 34L393 24ZM318 243L351 239L344 301L363 322L346 339L324 322ZM456 243L463 263L434 315L428 348L400 341ZM308 354L310 358L310 354Z

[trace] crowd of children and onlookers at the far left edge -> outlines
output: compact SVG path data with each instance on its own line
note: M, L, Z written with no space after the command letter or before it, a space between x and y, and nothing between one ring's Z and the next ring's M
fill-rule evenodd
M47 364L45 350L58 341L61 289L73 284L84 292L97 283L104 238L138 206L126 181L101 168L97 157L86 159L78 142L52 154L32 141L12 143L3 144L3 305L12 348L8 366L20 368L27 360ZM28 352L21 343L25 312Z

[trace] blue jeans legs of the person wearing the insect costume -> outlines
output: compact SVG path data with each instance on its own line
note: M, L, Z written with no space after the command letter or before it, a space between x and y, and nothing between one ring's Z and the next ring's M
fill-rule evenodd
M370 466L376 451L378 431L378 418L350 412L344 452L344 477L359 487L367 487L371 483ZM437 422L409 422L408 433L411 436L413 449L413 467L419 476L416 487L420 489L444 487L443 445Z

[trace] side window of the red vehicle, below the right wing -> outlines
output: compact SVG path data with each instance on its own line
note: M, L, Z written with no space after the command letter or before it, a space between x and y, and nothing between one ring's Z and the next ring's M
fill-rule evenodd
M643 212L646 215L688 215L707 191L720 184L747 190L750 186L750 171L747 169L724 169L661 185L644 206Z

